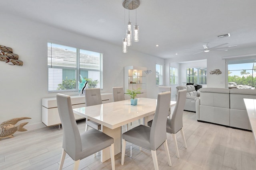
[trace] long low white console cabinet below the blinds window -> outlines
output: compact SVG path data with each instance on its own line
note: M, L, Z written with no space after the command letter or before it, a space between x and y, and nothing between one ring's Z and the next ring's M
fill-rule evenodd
M72 107L85 107L85 96L84 95L77 95L77 96L70 96ZM112 93L102 93L101 94L102 103L109 103L113 102L113 94ZM80 115L74 114L75 119L84 119ZM58 113L57 101L56 97L54 98L43 98L42 99L42 122L46 126L54 126L60 125L60 117Z

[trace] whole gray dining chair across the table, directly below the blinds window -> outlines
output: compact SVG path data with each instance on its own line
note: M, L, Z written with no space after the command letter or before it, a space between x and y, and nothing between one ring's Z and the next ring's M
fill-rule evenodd
M86 88L85 89L85 106L93 106L97 104L102 104L100 88ZM88 130L88 126L100 130L101 125L92 120L86 120L85 131Z

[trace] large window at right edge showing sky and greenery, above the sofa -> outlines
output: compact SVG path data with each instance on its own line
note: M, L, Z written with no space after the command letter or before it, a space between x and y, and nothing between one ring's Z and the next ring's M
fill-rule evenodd
M228 86L256 87L256 57L228 60ZM255 62L255 63L254 63Z

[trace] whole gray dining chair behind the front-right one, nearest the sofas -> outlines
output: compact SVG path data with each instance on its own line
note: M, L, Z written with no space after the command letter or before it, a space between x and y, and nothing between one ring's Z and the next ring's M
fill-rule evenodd
M175 142L175 147L176 147L176 155L178 158L180 158L177 139L176 139L176 133L178 131L180 131L182 135L182 139L184 141L185 148L187 148L186 139L183 131L183 121L182 121L183 109L186 102L186 92L187 92L186 89L178 91L177 102L174 107L174 111L172 113L172 118L167 119L167 123L166 123L166 132L172 134L172 138L173 138L173 141ZM152 125L152 121L149 121L148 126L151 127L151 125Z

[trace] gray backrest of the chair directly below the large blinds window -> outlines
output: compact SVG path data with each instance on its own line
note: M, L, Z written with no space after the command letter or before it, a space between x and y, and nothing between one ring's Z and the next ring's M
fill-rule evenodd
M94 106L102 104L100 88L85 89L85 106Z

